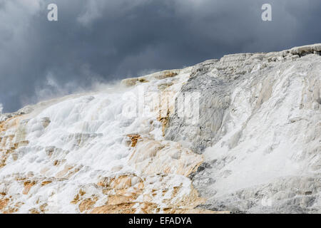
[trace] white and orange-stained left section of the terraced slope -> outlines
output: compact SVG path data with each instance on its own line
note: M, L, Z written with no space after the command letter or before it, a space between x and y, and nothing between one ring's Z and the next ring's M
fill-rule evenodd
M163 71L1 115L0 212L215 213L195 208L205 199L188 178L203 156L163 137L189 75Z

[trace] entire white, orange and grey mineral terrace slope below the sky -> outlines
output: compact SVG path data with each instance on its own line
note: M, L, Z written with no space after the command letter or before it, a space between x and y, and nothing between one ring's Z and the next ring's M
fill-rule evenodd
M321 44L0 115L2 213L321 212Z

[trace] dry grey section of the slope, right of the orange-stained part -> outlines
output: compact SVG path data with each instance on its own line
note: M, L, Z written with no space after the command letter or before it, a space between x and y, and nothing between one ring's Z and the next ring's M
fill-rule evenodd
M200 91L199 122L173 115L165 138L204 155L190 175L207 199L201 208L321 212L318 50L229 55L193 68L181 93Z

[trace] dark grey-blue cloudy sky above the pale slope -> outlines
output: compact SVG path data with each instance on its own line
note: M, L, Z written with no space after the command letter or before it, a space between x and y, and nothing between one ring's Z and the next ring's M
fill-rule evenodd
M58 21L47 20L50 3ZM228 53L320 43L320 21L320 0L0 0L0 111Z

